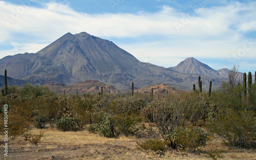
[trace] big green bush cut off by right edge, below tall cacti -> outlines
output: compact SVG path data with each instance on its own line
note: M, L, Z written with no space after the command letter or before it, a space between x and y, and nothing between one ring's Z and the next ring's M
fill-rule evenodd
M208 128L221 136L223 143L234 148L256 148L256 119L253 111L228 110L217 116Z

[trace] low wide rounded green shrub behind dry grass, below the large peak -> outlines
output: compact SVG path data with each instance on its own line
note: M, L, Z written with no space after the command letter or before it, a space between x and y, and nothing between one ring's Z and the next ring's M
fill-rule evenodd
M77 120L74 117L62 117L56 121L56 127L62 131L78 130Z

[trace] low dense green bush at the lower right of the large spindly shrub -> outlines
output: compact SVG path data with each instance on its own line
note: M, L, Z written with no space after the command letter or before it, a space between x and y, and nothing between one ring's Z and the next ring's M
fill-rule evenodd
M172 133L165 135L165 139L172 148L182 148L187 151L196 151L199 147L205 147L208 134L200 128L179 127Z

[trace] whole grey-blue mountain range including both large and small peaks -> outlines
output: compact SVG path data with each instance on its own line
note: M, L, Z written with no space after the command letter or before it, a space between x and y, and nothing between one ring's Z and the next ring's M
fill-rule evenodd
M209 80L214 80L212 85L220 85L226 80L194 58L174 68L140 62L112 41L86 32L67 33L37 53L4 57L0 59L0 75L5 69L12 78L40 84L73 85L97 80L121 90L131 90L133 81L137 88L164 83L187 89L197 83L198 75L205 85Z

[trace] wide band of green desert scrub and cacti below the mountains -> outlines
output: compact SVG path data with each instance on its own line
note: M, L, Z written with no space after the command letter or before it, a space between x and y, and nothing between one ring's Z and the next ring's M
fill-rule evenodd
M236 70L231 70L236 72ZM234 76L232 76L232 75ZM256 148L256 84L248 85L231 73L218 90L202 90L199 77L191 92L132 95L56 95L47 86L6 86L0 96L0 128L3 134L4 105L8 104L10 140L23 138L38 145L47 129L58 132L87 131L103 138L133 137L137 150L146 154L168 152L203 154L221 158L221 151L202 151L221 141L238 152ZM249 74L250 75L250 74ZM232 79L233 78L233 79ZM135 84L132 84L135 85ZM32 133L33 130L39 133ZM240 151L239 151L240 150ZM85 158L86 159L86 158Z

